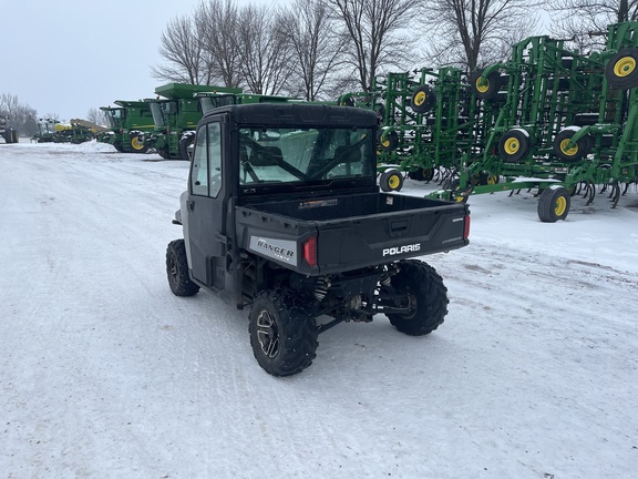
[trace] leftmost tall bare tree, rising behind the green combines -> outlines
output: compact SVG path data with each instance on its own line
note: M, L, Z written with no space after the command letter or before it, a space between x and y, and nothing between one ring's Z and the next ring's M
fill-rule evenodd
M210 69L205 62L193 19L173 19L162 32L160 42L160 55L166 64L151 69L154 78L175 83L208 84Z

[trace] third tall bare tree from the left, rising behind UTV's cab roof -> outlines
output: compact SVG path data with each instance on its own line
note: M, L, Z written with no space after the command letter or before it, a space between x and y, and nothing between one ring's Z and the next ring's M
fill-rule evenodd
M291 50L268 7L249 4L239 13L239 70L256 94L280 94L292 71Z

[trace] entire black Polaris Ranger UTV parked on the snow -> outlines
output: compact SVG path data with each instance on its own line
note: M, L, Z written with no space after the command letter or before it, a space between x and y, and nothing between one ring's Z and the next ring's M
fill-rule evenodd
M271 375L310 366L319 333L341 322L384 314L420 336L447 313L439 274L408 258L467 245L467 206L380 193L377 128L372 111L303 103L224 106L197 125L168 283L250 306Z

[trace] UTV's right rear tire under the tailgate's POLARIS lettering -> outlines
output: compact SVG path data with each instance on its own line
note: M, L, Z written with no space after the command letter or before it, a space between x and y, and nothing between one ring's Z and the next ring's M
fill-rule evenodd
M399 263L400 272L392 277L394 293L403 295L404 314L387 314L390 324L410 336L432 333L445 320L447 314L447 288L432 266L418 259Z

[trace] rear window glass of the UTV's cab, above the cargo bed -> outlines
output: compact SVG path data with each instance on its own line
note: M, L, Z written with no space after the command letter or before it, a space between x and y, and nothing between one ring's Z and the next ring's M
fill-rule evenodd
M371 129L239 130L243 185L373 177Z

